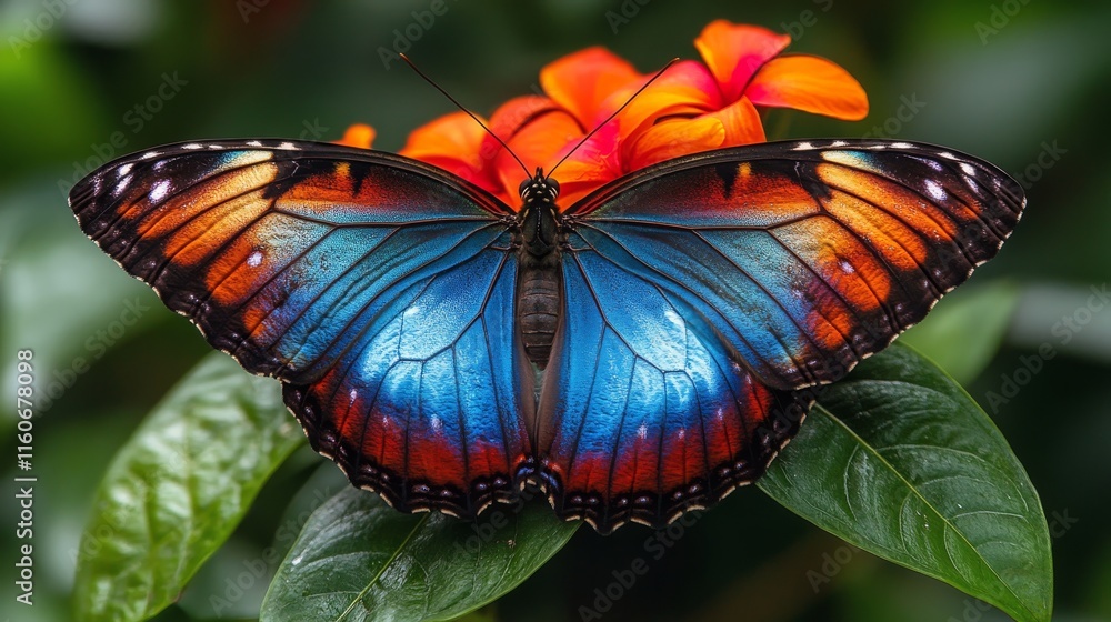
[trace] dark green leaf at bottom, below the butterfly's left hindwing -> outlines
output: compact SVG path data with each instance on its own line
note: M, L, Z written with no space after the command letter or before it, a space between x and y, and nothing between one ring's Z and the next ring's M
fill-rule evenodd
M348 489L318 509L278 569L261 620L451 620L509 592L571 539L536 499L478 521L402 514Z

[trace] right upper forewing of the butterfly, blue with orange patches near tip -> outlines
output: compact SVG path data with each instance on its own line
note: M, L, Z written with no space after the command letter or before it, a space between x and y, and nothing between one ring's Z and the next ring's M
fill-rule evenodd
M1024 199L999 169L888 141L673 160L573 205L575 231L703 313L761 381L842 377L998 252Z

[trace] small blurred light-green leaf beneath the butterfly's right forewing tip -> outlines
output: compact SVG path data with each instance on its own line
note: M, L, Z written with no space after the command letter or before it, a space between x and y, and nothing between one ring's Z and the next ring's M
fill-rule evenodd
M961 288L900 341L929 357L958 382L971 382L1003 343L1020 293L1009 281Z

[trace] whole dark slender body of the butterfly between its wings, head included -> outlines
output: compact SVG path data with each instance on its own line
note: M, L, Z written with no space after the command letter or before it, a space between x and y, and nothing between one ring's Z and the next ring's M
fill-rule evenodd
M529 360L548 364L559 324L563 290L560 282L560 244L565 234L560 223L559 183L537 174L520 187L521 211L517 218L518 277L517 325Z

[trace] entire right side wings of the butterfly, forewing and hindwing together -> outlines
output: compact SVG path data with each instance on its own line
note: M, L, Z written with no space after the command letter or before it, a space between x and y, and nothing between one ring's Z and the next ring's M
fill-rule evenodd
M838 141L671 160L572 205L538 412L552 503L602 531L659 525L752 481L803 389L921 320L1023 204L975 158Z

